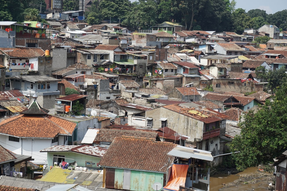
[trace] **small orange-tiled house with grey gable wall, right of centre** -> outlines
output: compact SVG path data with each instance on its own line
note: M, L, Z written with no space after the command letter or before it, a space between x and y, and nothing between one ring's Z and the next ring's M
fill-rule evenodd
M174 88L166 95L168 95L169 98L184 102L199 101L200 99L200 94L195 87Z

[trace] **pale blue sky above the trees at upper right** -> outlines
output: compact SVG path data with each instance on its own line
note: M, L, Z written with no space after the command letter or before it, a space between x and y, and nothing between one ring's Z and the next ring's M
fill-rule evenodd
M274 14L287 9L286 0L235 0L235 9L242 8L245 11L250 9L265 10L267 14Z

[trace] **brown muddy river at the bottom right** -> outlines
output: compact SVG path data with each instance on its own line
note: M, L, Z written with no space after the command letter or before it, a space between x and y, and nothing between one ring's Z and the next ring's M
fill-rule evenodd
M251 167L238 174L216 174L210 177L210 191L273 190L274 180L273 173ZM270 183L272 186L269 186Z

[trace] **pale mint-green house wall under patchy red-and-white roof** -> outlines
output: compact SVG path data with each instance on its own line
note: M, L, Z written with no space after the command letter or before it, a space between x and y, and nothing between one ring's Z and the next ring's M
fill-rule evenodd
M77 161L78 166L86 166L86 161L93 162L95 163L92 165L93 168L97 168L97 163L100 162L101 158L92 156L92 155L85 155L85 154L80 154L80 153L74 153L74 152L48 152L47 155L47 161L49 166L53 166L53 155L64 155L65 158L70 158L70 159L65 159L65 162L72 163L74 161ZM71 160L74 159L74 160Z

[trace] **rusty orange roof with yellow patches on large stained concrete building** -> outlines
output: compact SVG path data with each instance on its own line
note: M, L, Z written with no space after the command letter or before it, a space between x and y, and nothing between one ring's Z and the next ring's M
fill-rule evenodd
M186 115L193 119L203 121L204 123L221 121L222 119L225 119L227 117L226 115L214 111L213 109L210 108L182 107L180 106L180 104L165 105L162 107L180 113L182 115Z

